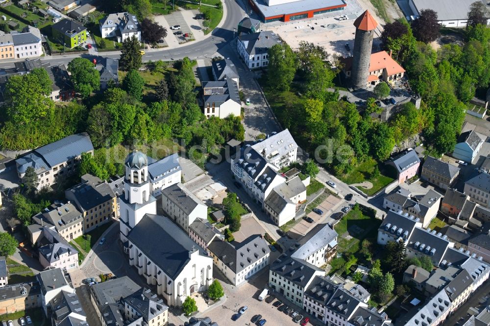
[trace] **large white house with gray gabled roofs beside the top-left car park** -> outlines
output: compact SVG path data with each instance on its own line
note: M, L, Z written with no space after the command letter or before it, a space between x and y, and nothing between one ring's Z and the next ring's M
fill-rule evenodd
M118 42L136 36L141 41L141 27L135 15L128 12L110 14L99 21L103 38L115 38Z

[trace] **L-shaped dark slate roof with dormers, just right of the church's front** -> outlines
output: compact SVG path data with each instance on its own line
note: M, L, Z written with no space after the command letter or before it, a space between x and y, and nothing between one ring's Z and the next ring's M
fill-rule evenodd
M240 273L270 254L266 240L259 234L249 236L236 247L225 240L215 239L209 244L208 249L234 273Z

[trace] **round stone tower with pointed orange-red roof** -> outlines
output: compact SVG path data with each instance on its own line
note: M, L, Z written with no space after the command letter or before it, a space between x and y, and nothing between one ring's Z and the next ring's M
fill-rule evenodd
M354 22L356 38L354 39L354 56L352 58L352 87L366 88L368 84L369 62L371 61L372 39L378 23L368 10Z

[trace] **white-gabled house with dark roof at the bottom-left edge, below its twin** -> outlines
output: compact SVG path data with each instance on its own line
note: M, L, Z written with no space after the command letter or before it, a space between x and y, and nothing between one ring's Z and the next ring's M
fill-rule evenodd
M48 315L51 316L51 325L63 325L62 323L68 319L72 325L74 321L88 326L87 315L83 311L76 293L71 291L61 290L49 301Z

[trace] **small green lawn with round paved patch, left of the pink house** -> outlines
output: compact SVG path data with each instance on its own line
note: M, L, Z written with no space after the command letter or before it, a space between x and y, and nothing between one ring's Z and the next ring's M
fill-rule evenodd
M378 165L380 175L376 178L373 178L371 174L377 164L378 163L374 159L369 158L366 161L359 163L352 172L343 176L339 176L339 179L341 179L347 185L358 184L364 181L371 182L373 184L373 187L371 189L365 189L360 186L358 186L358 188L364 191L364 193L366 193L368 196L372 196L395 180L394 178L389 176L393 173L391 169L392 166L385 167L383 164Z

